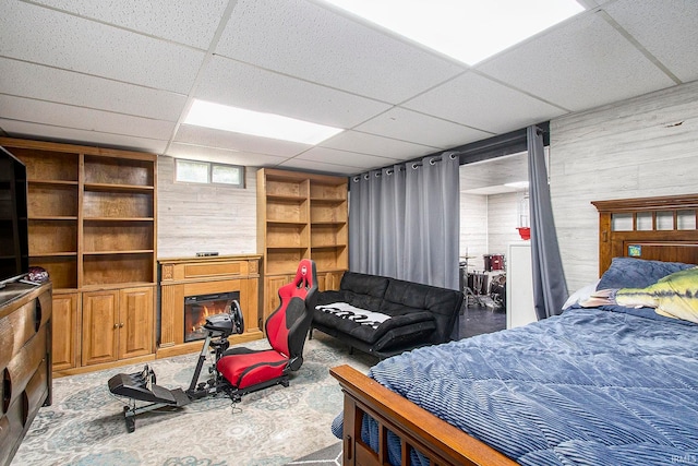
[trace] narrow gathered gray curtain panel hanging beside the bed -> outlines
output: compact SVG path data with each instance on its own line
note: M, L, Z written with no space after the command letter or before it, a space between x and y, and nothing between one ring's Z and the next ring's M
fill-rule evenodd
M527 139L533 301L538 320L542 320L562 312L567 284L550 200L543 134L537 127L529 127Z

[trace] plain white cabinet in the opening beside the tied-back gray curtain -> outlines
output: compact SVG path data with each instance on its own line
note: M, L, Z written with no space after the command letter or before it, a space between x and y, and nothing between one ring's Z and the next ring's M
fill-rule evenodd
M538 321L533 306L533 270L531 242L508 246L506 271L506 327L513 328Z

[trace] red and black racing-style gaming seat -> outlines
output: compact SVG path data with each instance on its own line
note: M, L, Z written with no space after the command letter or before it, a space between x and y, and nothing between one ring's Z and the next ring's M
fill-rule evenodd
M296 278L279 288L280 304L266 320L272 349L231 348L218 360L216 369L232 386L229 395L233 401L267 386L288 386L289 372L303 363L303 345L316 291L315 263L304 259L298 265Z

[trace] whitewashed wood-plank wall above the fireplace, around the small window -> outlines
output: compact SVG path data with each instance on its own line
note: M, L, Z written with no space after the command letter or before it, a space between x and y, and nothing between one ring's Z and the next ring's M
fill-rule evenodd
M158 157L157 256L256 252L256 168L245 167L245 187L174 182L174 159Z

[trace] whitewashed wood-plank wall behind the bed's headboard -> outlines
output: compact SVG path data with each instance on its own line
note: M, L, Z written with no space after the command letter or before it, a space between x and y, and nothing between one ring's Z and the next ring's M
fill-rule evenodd
M598 278L591 201L698 191L698 82L551 121L551 198L571 291Z

